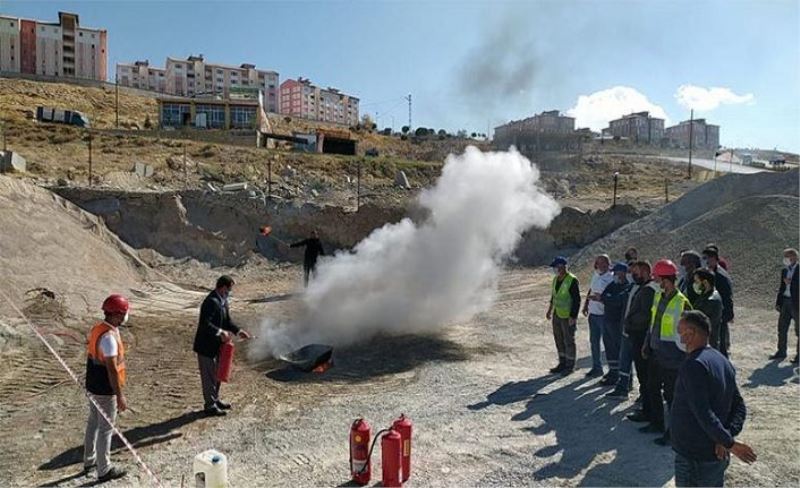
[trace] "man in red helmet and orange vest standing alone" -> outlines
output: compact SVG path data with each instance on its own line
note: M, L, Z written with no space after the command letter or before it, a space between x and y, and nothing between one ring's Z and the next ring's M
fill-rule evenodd
M125 345L118 327L128 320L128 300L111 295L103 302L105 320L92 327L86 354L86 390L100 407L89 402L89 420L84 439L83 467L97 467L97 481L103 483L122 478L126 472L111 466L111 424L117 410L128 407L122 392L125 386ZM104 414L104 415L103 415ZM106 418L108 420L106 420Z

